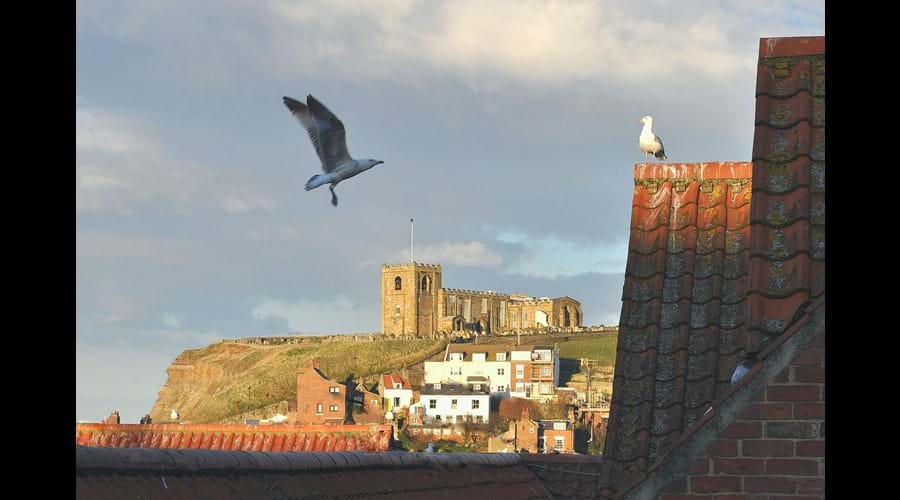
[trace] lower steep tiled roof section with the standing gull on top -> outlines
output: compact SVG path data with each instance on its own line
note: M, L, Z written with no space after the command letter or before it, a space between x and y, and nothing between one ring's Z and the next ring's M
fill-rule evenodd
M727 390L746 322L751 164L635 166L603 474L636 477Z

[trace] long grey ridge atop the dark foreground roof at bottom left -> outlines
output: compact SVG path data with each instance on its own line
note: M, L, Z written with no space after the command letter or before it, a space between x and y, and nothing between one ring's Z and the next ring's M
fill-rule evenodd
M75 447L75 468L120 470L313 471L359 468L507 467L521 464L516 453L409 453L383 451L265 452L156 448Z

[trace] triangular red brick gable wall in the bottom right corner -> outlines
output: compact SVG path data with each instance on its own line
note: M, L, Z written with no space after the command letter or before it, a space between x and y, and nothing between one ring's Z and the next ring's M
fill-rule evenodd
M662 500L824 498L824 334L663 491Z

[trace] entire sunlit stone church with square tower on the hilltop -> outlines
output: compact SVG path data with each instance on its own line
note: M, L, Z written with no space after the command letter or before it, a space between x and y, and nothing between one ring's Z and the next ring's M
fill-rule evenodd
M441 287L441 265L381 267L381 332L431 337L449 333L506 333L582 325L581 303L571 297L530 297Z

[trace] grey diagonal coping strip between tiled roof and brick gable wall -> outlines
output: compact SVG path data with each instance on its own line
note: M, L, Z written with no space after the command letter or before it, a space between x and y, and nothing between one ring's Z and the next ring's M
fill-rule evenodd
M640 477L634 479L616 498L655 498L659 489L687 472L694 458L718 438L719 432L731 425L751 403L760 388L771 383L825 327L824 295L812 302L805 313L771 345L760 352L760 362L728 392L710 405L708 413L687 429L662 453L660 458ZM766 360L770 362L766 362ZM740 396L744 396L741 398ZM729 403L734 403L729 407ZM715 423L715 425L712 425ZM640 458L640 457L638 457ZM607 458L610 460L610 458ZM615 460L615 459L613 459ZM616 460L618 462L625 462ZM633 461L633 460L631 460ZM600 498L610 498L600 494Z

